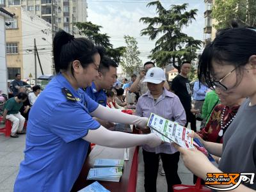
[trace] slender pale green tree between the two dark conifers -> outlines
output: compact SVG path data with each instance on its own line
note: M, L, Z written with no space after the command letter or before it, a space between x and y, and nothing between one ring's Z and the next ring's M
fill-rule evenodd
M138 51L136 38L125 35L124 39L126 47L120 65L129 76L132 76L134 71L138 70L142 65L142 61L139 58L140 51Z

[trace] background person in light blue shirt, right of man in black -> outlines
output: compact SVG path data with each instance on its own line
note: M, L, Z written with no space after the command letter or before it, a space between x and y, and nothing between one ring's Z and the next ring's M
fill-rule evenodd
M193 86L193 104L195 105L195 109L201 113L202 106L204 104L205 95L209 88L204 84L200 83L198 80L195 81Z

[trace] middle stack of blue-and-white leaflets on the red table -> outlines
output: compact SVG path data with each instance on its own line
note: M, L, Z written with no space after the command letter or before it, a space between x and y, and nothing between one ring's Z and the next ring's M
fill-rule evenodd
M122 168L120 167L91 168L87 179L119 182L121 176Z

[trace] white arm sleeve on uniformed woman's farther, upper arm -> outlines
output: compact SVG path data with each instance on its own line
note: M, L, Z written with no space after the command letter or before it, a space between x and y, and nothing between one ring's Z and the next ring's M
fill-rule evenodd
M122 113L121 111L106 108L101 105L99 105L98 108L91 113L91 115L102 120L108 120L109 122L115 122L120 124L132 124L137 125L140 128L144 128L148 122L147 117L129 115L126 113Z

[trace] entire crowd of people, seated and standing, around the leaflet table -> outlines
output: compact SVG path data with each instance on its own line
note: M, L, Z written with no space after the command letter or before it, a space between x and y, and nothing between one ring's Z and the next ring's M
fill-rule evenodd
M35 191L70 191L90 153L90 143L115 148L141 145L146 192L156 191L159 159L166 191L181 183L180 154L189 170L202 179L207 173L255 173L255 45L255 29L225 29L205 47L193 84L188 78L189 61L181 63L171 86L164 70L152 61L131 81L125 78L118 83L118 64L104 54L103 47L59 31L53 42L56 77L43 92L36 85L27 94L17 74L4 106L4 119L13 123L11 136L27 134L14 191L28 191L28 186ZM118 110L131 105L129 94L135 95L134 115ZM218 168L199 150L163 143L150 133L150 113L184 127L190 123L191 136L214 155ZM196 120L201 121L200 127ZM115 123L133 124L141 134L109 131ZM234 190L253 189L256 182Z

